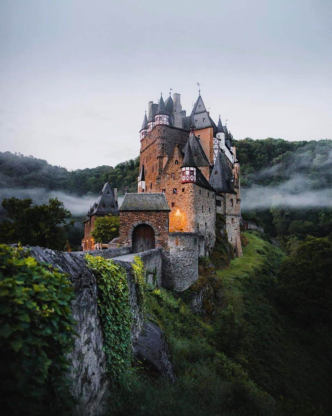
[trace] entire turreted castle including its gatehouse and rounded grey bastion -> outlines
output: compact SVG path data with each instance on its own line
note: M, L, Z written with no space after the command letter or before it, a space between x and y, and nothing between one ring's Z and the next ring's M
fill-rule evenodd
M216 213L224 215L229 243L242 256L236 149L227 126L220 117L215 124L200 93L189 116L180 94L150 101L139 136L137 193L126 193L119 208L117 243L133 252L161 247L162 285L184 290L198 277L198 258L213 249ZM90 211L87 230L95 215Z

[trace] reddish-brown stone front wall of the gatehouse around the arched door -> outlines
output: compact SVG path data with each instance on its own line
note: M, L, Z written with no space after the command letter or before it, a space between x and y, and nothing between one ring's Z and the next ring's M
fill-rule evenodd
M120 211L120 245L132 245L132 225L147 223L154 228L156 247L168 244L168 211Z

